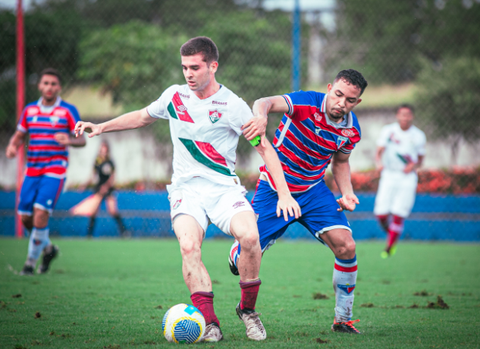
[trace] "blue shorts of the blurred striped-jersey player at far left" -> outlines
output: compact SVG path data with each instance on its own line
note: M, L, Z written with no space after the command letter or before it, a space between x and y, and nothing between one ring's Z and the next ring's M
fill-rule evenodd
M18 213L32 215L33 208L36 207L52 214L53 208L62 192L64 183L64 178L25 176L22 190L20 191Z

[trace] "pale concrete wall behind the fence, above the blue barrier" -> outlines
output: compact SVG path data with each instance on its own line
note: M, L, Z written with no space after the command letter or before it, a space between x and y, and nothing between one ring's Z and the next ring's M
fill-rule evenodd
M395 120L393 110L388 109L370 111L360 109L357 115L362 128L362 141L350 158L352 171L374 167L375 143L380 129ZM108 140L111 145L112 158L117 166L117 183L168 180L171 173L171 144L159 145L147 128L108 133L88 139L84 148L70 149L67 186L78 185L88 180L102 139ZM0 186L12 188L15 186L16 161L5 157L7 141L8 138L0 140ZM480 166L479 150L480 142L476 145L462 142L456 165ZM256 152L252 152L250 158L241 163L244 165L237 170L256 172L262 159ZM450 165L450 145L446 142L428 142L425 167L448 168Z

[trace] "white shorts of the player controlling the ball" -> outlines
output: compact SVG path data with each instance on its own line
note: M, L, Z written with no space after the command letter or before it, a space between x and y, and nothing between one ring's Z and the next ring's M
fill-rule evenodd
M195 218L204 231L208 220L225 234L230 232L232 217L243 211L253 212L242 185L223 185L195 177L179 185L167 186L172 222L179 214Z

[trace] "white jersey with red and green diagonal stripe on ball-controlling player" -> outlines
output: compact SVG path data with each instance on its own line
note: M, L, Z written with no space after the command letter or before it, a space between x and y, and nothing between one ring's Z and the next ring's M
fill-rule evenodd
M200 99L187 85L173 85L147 107L153 118L168 119L173 142L172 184L203 177L237 185L236 149L242 125L253 117L247 103L225 86Z

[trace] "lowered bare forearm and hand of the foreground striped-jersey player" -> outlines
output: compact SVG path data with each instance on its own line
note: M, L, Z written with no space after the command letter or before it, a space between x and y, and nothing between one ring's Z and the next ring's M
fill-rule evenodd
M337 183L342 197L337 200L340 205L338 211L353 211L355 207L360 203L357 196L353 192L352 181L350 178L350 163L348 158L350 154L337 152L333 156L332 173L335 182Z

